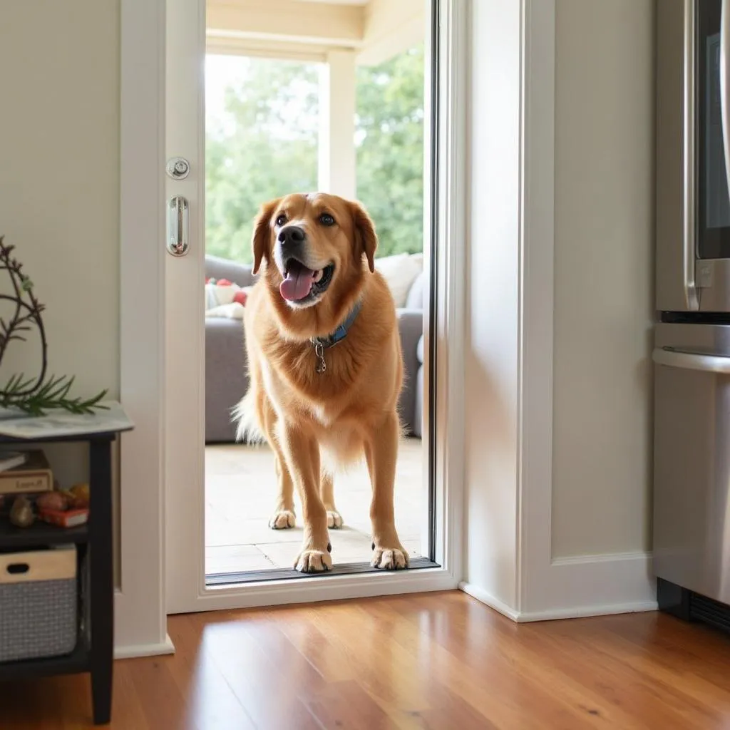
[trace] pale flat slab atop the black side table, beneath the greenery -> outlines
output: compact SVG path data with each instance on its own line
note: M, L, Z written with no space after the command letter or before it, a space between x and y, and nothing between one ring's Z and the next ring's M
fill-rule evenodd
M93 413L69 413L59 408L40 416L7 411L0 415L0 436L45 439L79 434L105 434L134 428L134 423L129 420L118 401L101 401L99 406L101 407L93 409Z

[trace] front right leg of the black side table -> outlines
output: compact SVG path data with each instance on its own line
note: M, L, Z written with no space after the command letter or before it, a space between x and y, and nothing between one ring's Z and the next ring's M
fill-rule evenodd
M91 697L96 725L112 714L114 556L112 545L112 441L89 442L89 598L91 599Z

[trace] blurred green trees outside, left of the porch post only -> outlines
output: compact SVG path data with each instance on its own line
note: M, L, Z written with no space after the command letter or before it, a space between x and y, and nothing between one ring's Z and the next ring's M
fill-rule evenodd
M250 264L261 203L317 189L318 68L232 60L237 80L206 124L206 251Z

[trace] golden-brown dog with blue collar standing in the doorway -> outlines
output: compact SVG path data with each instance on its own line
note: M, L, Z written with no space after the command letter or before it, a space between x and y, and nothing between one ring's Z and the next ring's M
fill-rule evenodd
M374 256L377 236L357 202L295 194L261 207L246 302L250 385L234 409L238 434L263 435L278 477L274 529L294 526L299 491L300 572L331 569L328 527L342 526L332 474L365 457L372 483L372 565L408 566L396 533L393 483L403 382L393 297Z

